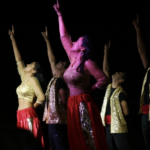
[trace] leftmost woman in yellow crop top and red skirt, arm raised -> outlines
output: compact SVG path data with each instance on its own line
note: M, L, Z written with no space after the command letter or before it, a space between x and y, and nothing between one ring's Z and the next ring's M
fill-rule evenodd
M44 81L41 74L41 67L37 62L32 62L25 67L14 37L14 26L12 26L12 31L9 30L9 35L12 41L18 72L22 81L17 88L19 101L17 127L30 130L44 147L41 124L34 110L34 108L42 104L45 99L39 83L43 83ZM34 101L35 98L37 98L36 102Z

